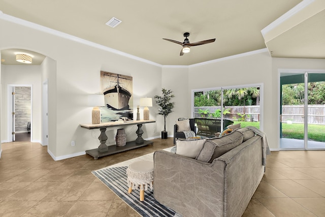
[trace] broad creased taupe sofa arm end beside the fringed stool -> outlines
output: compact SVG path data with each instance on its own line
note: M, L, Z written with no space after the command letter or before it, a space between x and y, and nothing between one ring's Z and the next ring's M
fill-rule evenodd
M223 216L225 162L154 152L154 198L184 216Z

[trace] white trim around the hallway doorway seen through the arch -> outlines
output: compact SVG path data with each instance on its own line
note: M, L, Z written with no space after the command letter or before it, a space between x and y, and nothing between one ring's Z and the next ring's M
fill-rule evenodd
M13 87L30 87L30 142L32 141L32 132L33 132L33 124L32 124L32 114L33 114L33 105L32 105L32 85L31 84L8 84L7 87L7 131L8 131L8 141L13 142L12 138L12 129L13 129L13 121L12 121L12 110L13 110L13 97L12 90Z

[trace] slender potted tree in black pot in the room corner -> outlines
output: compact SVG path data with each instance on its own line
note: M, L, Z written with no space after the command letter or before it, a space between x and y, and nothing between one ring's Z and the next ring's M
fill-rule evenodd
M164 116L164 131L161 131L161 139L167 139L167 131L166 131L166 117L173 112L174 108L174 102L171 102L171 99L175 97L173 95L172 90L167 90L165 88L162 88L161 91L163 92L163 95L161 96L154 96L154 99L156 99L156 103L159 106L158 114Z

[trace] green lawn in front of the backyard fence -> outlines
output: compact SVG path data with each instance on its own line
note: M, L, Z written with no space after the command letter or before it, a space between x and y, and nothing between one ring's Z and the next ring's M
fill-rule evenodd
M252 126L259 129L259 122L234 121L234 125L241 123L241 127ZM282 138L304 139L303 123L282 123ZM325 125L308 125L308 140L325 142Z

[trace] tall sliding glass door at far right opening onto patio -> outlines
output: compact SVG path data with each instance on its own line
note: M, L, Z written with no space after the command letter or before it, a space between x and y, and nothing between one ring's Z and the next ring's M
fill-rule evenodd
M325 148L325 74L281 73L280 148Z

